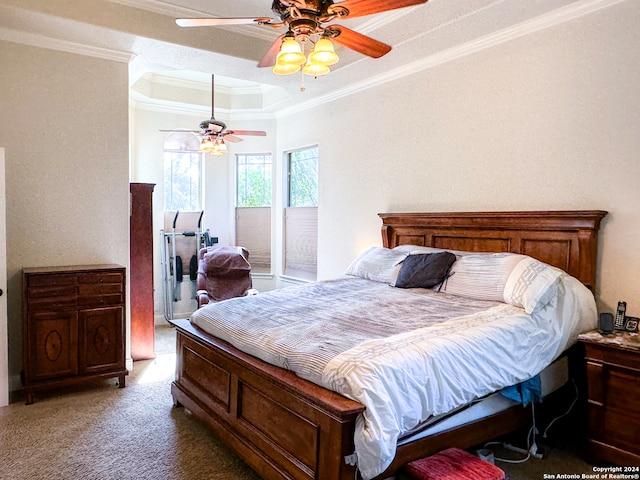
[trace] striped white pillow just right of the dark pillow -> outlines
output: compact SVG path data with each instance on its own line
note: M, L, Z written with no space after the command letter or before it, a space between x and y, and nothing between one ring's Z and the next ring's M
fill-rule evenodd
M516 253L479 253L459 257L449 271L442 292L504 302L509 275L524 255Z

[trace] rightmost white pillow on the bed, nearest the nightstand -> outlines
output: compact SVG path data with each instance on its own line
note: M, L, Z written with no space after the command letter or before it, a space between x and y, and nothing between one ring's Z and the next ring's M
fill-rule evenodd
M504 301L528 314L544 307L558 291L559 268L526 257L518 263L504 286Z

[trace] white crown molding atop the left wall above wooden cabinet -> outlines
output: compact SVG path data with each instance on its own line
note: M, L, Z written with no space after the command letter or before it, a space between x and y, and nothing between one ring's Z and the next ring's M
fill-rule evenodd
M40 34L22 32L3 27L0 27L0 40L10 43L29 45L31 47L59 50L88 57L101 58L103 60L111 60L114 62L129 63L135 58L135 55L130 52L93 47L90 45L69 42L67 40L60 40Z

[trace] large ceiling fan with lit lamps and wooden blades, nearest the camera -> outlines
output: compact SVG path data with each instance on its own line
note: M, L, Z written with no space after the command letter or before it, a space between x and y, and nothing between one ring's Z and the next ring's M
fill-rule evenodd
M279 65L286 64L286 62L282 60L283 57L280 57L280 54L282 53L281 47L285 45L287 40L290 41L291 39L294 39L304 45L312 35L319 36L320 39L333 40L339 45L343 45L372 58L382 57L391 51L391 47L389 45L366 35L362 35L361 33L342 25L331 24L331 22L339 18L362 17L388 10L419 5L426 2L427 0L345 0L338 1L337 3L334 3L333 0L274 0L271 9L279 18L279 21L269 17L178 18L176 19L176 23L181 27L256 23L258 25L268 25L273 28L286 27L287 32L276 39L258 63L259 67L279 67ZM322 42L318 40L318 42L315 43L316 46L318 46L318 44ZM337 62L337 55L333 52L332 45L330 45L330 49L333 55L329 56L331 56L331 61L335 63ZM301 67L304 62L307 62L308 64L311 63L310 60L304 56L304 53L302 53L302 57L300 57L300 53L296 53L296 55L297 58L299 58L299 60L296 61L300 62L298 63L298 67ZM330 64L331 63L327 63L326 65ZM298 71L299 69L300 68L297 68L295 71ZM276 68L274 68L274 73L295 73L294 71L289 70L276 71ZM328 70L323 70L324 73L319 73L320 70L316 69L314 72L315 73L309 74L324 74L328 73Z

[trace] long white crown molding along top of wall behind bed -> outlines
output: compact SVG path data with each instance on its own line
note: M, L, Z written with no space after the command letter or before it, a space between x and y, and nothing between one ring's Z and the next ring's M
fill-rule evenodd
M298 112L302 112L311 108L318 107L323 104L331 103L341 98L362 92L369 88L391 82L415 73L428 70L439 65L457 60L459 58L472 55L482 50L495 47L502 43L509 42L516 38L520 38L532 33L560 25L571 20L575 20L584 15L597 12L609 8L613 5L625 2L627 0L580 0L565 7L561 7L550 13L540 15L531 20L521 22L511 27L498 30L489 35L479 37L470 42L458 45L447 50L429 55L409 64L386 71L380 75L368 78L367 80L353 83L347 87L338 89L328 95L316 97L307 102L302 102L291 107L280 109L276 112L276 118L285 117ZM354 64L349 65L353 67ZM349 68L347 67L347 68Z

